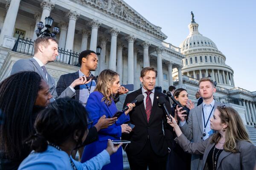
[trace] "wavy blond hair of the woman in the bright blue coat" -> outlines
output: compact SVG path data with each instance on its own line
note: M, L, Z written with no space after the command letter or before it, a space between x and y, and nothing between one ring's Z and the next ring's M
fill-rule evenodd
M119 74L112 70L103 70L97 79L97 85L94 91L99 91L103 94L102 101L105 100L105 103L109 106L112 103L113 99L113 91L111 91L111 87L113 86L113 82L116 80ZM110 95L109 95L110 94Z

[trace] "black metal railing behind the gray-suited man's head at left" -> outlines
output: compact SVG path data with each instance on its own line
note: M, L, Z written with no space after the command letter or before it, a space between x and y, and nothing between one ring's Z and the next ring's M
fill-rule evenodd
M34 42L28 39L24 40L18 38L15 42L14 47L12 48L12 51L34 56ZM58 49L58 53L59 55L55 59L56 62L61 62L64 64L74 65L78 67L80 66L78 62L79 53L72 52L71 50L63 50L62 48Z

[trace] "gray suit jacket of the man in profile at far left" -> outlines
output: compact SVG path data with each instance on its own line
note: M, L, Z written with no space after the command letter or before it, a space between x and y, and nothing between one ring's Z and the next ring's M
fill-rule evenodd
M35 72L37 72L44 79L44 81L46 81L48 83L49 88L50 88L49 91L52 94L52 97L55 99L62 98L62 97L70 97L71 98L76 94L68 87L61 93L60 96L58 96L58 94L55 90L55 80L51 77L51 75L49 73L47 74L47 77L48 77L48 80L47 80L42 68L40 67L38 62L33 58L17 60L14 63L14 65L12 66L11 75L15 74L17 72L20 72L20 71L35 71Z

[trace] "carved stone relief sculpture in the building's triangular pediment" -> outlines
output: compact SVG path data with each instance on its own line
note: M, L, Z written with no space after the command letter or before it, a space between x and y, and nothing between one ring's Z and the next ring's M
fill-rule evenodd
M124 20L129 24L147 31L154 36L165 40L167 36L159 29L159 27L150 23L142 15L133 8L129 7L123 0L72 0L82 6L90 6L96 10L100 10L105 14L111 15L119 20Z

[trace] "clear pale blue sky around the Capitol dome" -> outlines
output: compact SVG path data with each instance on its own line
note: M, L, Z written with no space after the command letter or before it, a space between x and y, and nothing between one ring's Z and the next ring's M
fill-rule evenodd
M162 27L166 42L179 46L188 36L190 11L198 30L217 45L234 70L236 87L256 91L256 0L125 0Z

